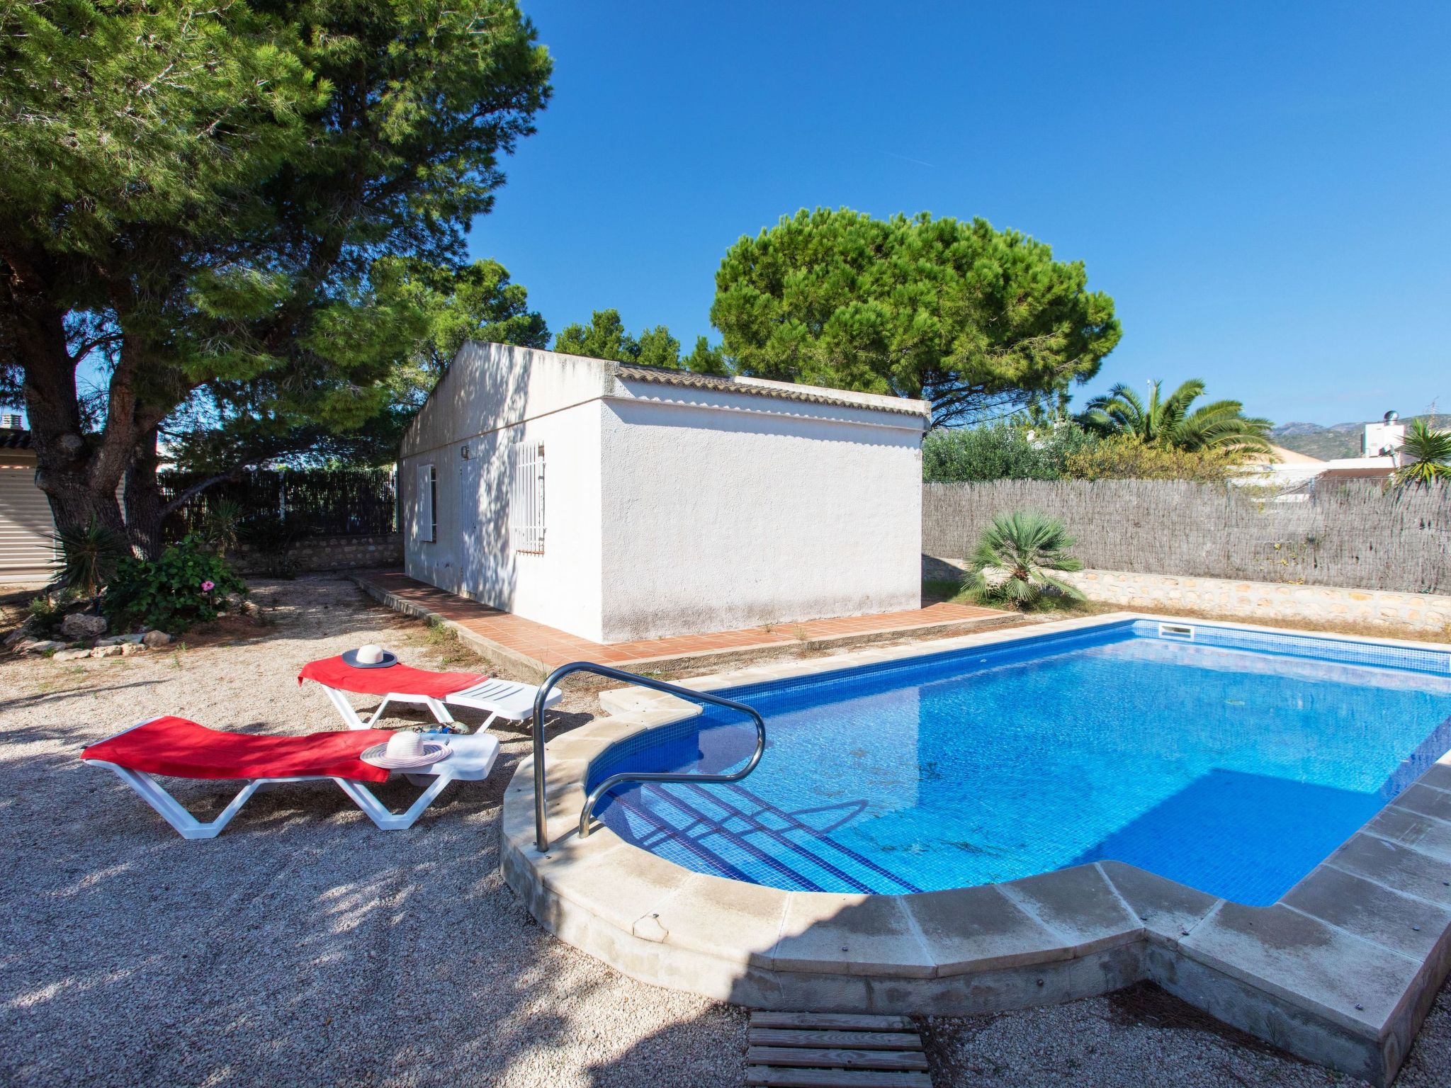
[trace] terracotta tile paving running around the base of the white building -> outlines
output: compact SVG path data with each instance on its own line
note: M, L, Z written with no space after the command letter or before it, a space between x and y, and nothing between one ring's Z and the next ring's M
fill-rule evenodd
M454 621L474 637L493 643L509 651L511 656L525 657L544 669L554 669L566 662L577 660L601 662L604 664L631 664L681 657L708 657L746 647L786 646L795 641L820 643L866 634L917 631L1008 615L991 608L943 602L905 612L776 624L769 631L765 627L750 627L741 631L714 631L695 635L644 638L634 643L601 644L553 627L546 627L544 624L535 624L533 619L525 619L511 612L502 612L498 608L480 605L476 601L466 601L399 572L370 570L355 573L353 577L366 590L373 593L373 596L386 601L395 608L398 606L396 601L427 609L444 619ZM393 598L393 601L389 598Z

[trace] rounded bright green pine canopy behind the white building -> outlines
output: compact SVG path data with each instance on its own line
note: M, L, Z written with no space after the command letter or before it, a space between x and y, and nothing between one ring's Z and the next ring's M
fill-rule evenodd
M711 322L747 374L924 397L934 424L1061 395L1120 335L1113 299L1042 242L982 219L847 209L741 238Z

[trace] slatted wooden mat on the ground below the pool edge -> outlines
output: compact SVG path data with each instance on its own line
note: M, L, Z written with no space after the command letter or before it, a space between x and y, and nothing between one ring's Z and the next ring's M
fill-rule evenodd
M908 1017L752 1013L747 1042L747 1085L932 1088Z

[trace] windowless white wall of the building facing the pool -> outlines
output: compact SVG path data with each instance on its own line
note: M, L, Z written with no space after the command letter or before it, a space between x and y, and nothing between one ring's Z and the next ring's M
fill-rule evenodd
M601 442L605 641L920 605L920 419L620 392Z

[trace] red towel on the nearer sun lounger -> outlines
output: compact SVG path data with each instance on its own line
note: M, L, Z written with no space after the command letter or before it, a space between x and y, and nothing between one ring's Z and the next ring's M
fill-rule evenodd
M387 770L364 763L358 756L392 735L389 730L334 730L305 737L258 737L251 733L209 730L186 718L165 717L91 744L81 753L81 759L103 759L131 770L174 778L328 775L358 782L386 782Z

